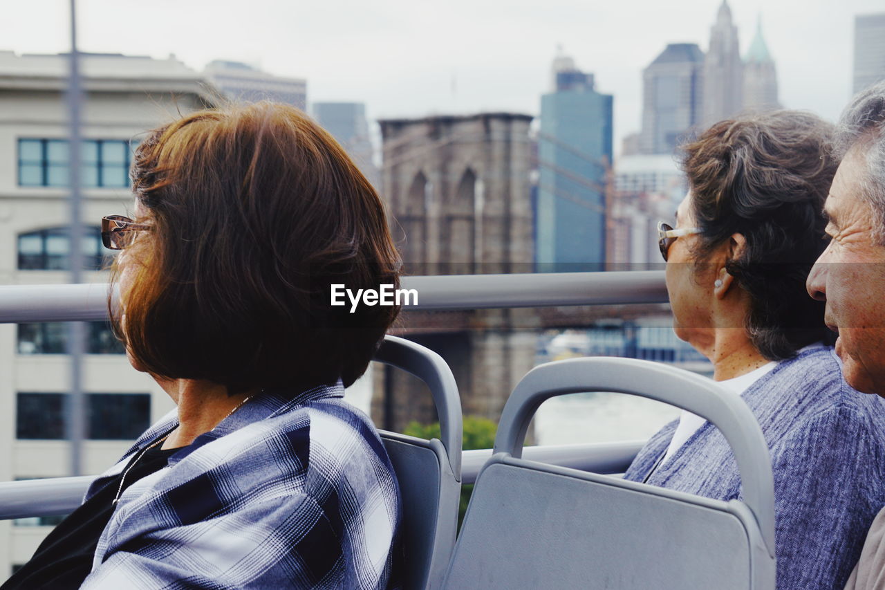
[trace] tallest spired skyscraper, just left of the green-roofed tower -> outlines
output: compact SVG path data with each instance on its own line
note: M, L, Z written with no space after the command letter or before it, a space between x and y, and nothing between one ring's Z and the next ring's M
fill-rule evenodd
M743 106L743 64L737 27L727 0L722 0L710 28L710 48L704 58L704 116L702 128L738 113Z

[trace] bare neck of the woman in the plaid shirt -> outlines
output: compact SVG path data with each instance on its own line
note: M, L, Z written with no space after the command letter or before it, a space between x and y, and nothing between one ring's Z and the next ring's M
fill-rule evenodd
M178 405L178 426L162 448L188 446L211 431L255 392L227 395L227 387L197 379L157 380Z

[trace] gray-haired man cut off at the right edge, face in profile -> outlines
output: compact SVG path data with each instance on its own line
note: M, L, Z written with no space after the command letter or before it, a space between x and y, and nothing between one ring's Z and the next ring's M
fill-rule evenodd
M806 286L813 298L827 301L825 322L839 334L835 352L845 380L885 397L885 82L845 109L836 150L842 163L824 206L832 239ZM885 458L869 469L878 470L885 485ZM845 587L885 589L885 509L873 520Z

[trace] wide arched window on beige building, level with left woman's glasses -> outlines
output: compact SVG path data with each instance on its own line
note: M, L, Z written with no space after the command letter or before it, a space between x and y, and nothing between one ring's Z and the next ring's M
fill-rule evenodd
M101 270L105 257L110 258L102 246L101 228L86 228L82 237L83 268ZM68 270L68 253L71 251L70 229L37 229L19 234L19 270Z

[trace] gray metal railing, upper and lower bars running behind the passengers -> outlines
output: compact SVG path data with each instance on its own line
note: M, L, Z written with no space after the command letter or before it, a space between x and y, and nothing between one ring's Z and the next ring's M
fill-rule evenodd
M566 307L665 303L663 271L539 273L518 275L407 276L403 289L418 291L404 311L504 307ZM84 322L108 315L108 285L45 284L0 286L0 323ZM643 441L531 446L526 459L562 467L621 473ZM491 449L465 451L462 483L471 484ZM0 483L0 519L65 514L81 503L94 476L53 477Z

